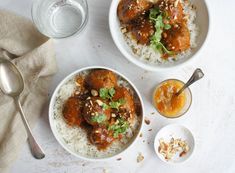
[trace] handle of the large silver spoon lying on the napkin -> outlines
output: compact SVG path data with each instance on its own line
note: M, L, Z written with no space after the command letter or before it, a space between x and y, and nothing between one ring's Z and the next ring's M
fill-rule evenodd
M45 154L43 153L41 147L38 145L35 138L33 137L33 134L32 134L32 131L29 127L28 121L25 118L25 115L24 115L22 106L20 104L19 98L16 98L15 101L16 101L16 104L17 104L19 110L20 110L20 115L21 115L21 118L23 120L24 126L25 126L27 134L28 134L28 141L29 141L31 153L36 159L43 159L45 157Z

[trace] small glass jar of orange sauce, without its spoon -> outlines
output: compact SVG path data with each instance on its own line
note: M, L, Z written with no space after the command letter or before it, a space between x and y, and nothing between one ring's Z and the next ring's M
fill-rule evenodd
M153 104L159 114L167 118L178 118L184 115L192 103L192 93L186 88L179 96L175 95L184 85L178 79L161 82L154 90Z

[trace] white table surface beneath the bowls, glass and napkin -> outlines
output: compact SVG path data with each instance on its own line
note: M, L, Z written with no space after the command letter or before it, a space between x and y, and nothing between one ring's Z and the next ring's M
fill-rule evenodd
M143 137L123 154L122 160L85 162L67 153L55 140L48 123L47 108L34 128L46 158L35 160L25 144L12 173L234 173L235 172L235 1L207 0L210 10L210 34L198 61L169 73L146 72L129 63L112 41L108 27L111 0L88 0L89 22L76 37L55 41L59 71L51 91L66 75L81 67L105 65L117 69L140 90L150 125L144 124ZM0 7L30 18L31 0L0 0ZM159 116L151 104L154 86L167 78L187 80L196 67L205 78L191 87L193 104L189 112L176 120ZM151 113L155 112L154 115ZM170 166L160 161L153 149L156 132L166 124L180 123L191 129L196 139L192 157ZM153 129L151 132L148 129ZM145 142L144 142L145 141ZM149 144L148 144L149 143ZM138 153L145 159L136 162Z

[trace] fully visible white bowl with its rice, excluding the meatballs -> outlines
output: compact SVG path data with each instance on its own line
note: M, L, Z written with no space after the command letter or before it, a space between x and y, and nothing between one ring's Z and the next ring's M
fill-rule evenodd
M65 121L63 108L66 100L76 93L79 85L77 76L86 77L94 70L109 70L117 76L118 86L125 87L132 94L138 104L133 123L128 127L127 133L120 140L115 140L105 150L99 150L91 143L88 133L79 126L71 126ZM144 107L139 91L135 85L121 73L101 66L91 66L79 69L68 75L55 89L49 106L49 122L52 132L59 144L72 155L89 161L106 160L117 157L134 144L139 136L143 124Z

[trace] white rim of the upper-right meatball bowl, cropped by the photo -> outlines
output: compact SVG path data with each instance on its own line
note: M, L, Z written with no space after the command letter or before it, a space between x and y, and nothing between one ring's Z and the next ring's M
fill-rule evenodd
M116 47L119 49L119 51L122 53L122 55L124 55L125 58L127 58L130 62L141 67L144 70L154 71L154 72L160 72L160 71L163 72L163 71L167 71L167 70L175 70L175 69L178 69L179 67L186 66L186 65L192 63L196 59L195 57L198 57L200 55L199 53L204 49L206 43L208 42L208 36L210 33L210 13L209 13L209 8L207 5L207 2L205 0L203 0L203 1L205 4L207 16L208 16L208 28L206 31L206 36L205 36L204 41L202 42L200 48L190 58L187 58L184 62L181 62L179 64L175 64L173 66L166 66L166 67L162 67L162 66L158 66L158 65L153 66L153 65L147 64L145 62L142 62L141 60L136 59L133 55L129 54L124 49L124 47L121 44L119 44L119 42L117 41L118 36L117 36L117 34L115 34L115 32L113 30L114 26L113 26L112 20L113 20L114 15L117 16L116 11L117 11L118 4L117 4L117 6L115 6L115 3L117 3L117 0L112 0L110 8L109 8L109 30L110 30L112 39L113 39ZM113 11L115 11L115 13L113 13Z

